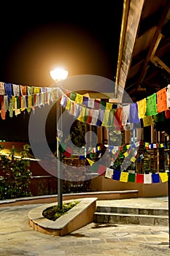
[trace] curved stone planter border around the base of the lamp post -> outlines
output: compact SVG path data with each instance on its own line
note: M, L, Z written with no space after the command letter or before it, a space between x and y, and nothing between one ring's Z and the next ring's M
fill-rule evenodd
M55 221L51 221L42 216L42 211L47 207L55 206L56 203L50 203L32 209L28 213L29 225L34 230L53 236L65 236L74 230L93 222L93 216L96 211L95 197L81 198L76 206L69 210L66 214ZM70 202L64 201L64 203Z

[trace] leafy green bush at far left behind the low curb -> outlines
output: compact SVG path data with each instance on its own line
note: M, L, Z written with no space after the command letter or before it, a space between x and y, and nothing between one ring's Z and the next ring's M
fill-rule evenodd
M15 146L9 154L3 154L4 146L0 145L0 199L31 196L28 184L31 182L30 160L26 159L30 146L25 145L20 152L21 157L15 157Z

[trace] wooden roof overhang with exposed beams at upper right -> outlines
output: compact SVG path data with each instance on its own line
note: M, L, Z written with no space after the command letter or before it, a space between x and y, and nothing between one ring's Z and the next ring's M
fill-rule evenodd
M170 83L170 0L124 0L116 95L134 101Z

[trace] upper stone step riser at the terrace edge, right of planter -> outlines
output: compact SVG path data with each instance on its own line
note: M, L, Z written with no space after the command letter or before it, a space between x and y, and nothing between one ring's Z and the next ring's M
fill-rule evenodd
M140 215L161 215L168 216L167 208L133 208L131 206L97 206L97 212L114 214L140 214Z

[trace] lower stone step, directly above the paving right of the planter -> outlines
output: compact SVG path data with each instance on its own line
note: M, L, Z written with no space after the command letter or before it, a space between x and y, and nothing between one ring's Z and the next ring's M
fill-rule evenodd
M145 214L117 214L101 213L94 214L93 221L96 223L114 223L114 224L135 224L135 225L169 225L168 216L145 215Z

